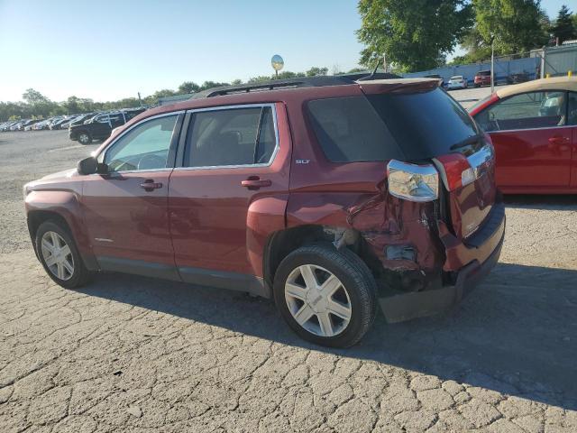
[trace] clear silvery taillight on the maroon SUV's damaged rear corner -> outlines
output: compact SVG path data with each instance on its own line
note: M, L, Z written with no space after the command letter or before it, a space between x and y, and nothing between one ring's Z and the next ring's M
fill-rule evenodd
M410 201L433 201L439 197L439 174L431 164L416 165L391 160L387 165L389 193Z

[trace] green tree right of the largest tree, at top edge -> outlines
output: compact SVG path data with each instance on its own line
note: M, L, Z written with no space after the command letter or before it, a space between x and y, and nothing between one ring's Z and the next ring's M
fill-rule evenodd
M499 54L529 51L545 44L545 13L539 0L472 0L472 5L483 46L490 46L491 36Z

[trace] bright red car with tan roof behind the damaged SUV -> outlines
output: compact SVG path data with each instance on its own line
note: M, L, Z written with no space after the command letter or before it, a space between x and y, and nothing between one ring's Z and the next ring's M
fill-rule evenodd
M504 193L577 193L577 77L501 88L470 114L490 134Z

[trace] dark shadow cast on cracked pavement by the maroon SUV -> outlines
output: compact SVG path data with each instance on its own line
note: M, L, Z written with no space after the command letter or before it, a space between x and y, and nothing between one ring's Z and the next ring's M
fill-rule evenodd
M575 271L499 263L451 311L394 325L378 315L362 343L349 349L307 344L289 331L270 301L241 292L112 273L80 291L286 345L577 410L575 281Z

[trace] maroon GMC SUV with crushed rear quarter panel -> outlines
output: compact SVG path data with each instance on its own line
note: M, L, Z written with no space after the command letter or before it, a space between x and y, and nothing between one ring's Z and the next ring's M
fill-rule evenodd
M490 138L438 79L218 88L119 128L24 187L66 288L129 272L273 298L299 336L349 346L459 301L499 259Z

